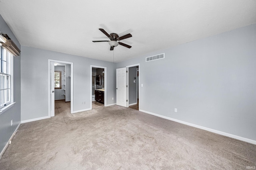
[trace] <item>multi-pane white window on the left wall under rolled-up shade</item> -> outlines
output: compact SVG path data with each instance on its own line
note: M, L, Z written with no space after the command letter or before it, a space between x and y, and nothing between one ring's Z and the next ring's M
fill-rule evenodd
M0 47L0 109L13 101L12 96L12 54ZM2 110L0 110L2 112Z

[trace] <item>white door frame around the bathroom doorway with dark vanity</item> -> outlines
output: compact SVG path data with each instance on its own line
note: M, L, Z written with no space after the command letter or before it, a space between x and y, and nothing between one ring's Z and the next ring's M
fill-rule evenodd
M90 110L92 109L92 67L94 68L104 68L104 106L107 106L107 67L105 66L90 66Z

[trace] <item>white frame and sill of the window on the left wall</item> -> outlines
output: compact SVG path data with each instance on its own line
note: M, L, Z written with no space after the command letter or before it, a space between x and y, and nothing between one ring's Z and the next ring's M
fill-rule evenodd
M12 107L16 102L14 102L14 71L13 71L13 64L14 64L14 56L6 49L4 49L2 46L0 46L0 74L9 76L9 84L8 88L10 90L9 92L9 102L4 103L3 105L0 104L0 115L4 113L4 111L8 110L10 107ZM3 55L6 55L6 73L2 72L2 59ZM1 82L0 82L1 83ZM4 89L3 89L4 90ZM2 91L2 90L0 90ZM1 95L1 92L0 92Z

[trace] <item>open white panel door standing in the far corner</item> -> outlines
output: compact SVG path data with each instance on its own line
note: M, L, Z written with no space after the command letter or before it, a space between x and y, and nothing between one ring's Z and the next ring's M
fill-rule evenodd
M116 69L116 105L127 107L126 67Z

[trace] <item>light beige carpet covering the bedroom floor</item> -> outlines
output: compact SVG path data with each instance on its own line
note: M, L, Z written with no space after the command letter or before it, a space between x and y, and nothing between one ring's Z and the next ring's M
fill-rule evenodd
M1 170L246 169L256 145L140 111L98 107L23 123Z

